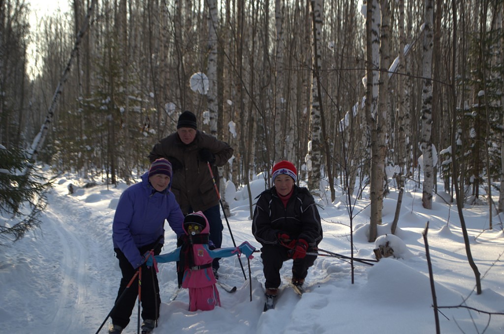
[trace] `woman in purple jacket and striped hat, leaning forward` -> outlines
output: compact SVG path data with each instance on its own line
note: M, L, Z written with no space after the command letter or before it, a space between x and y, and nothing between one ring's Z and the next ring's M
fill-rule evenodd
M142 182L128 187L119 198L112 223L112 240L122 278L110 314L110 334L120 333L130 322L138 296L138 279L128 289L126 286L138 270L142 271L142 330L152 331L159 317L158 279L145 261L150 250L154 250L154 255L161 252L165 219L177 237L184 234L184 216L170 191L171 179L171 163L164 158L157 159L149 172L142 175Z

